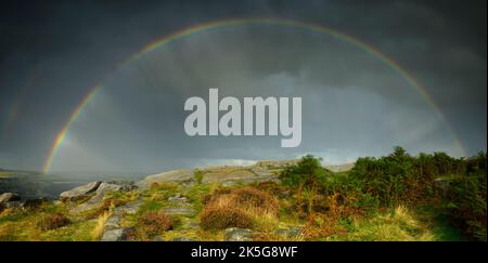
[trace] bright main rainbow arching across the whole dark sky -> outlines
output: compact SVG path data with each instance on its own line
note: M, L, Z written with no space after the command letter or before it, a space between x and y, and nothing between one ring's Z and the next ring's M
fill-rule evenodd
M243 26L243 25L275 25L275 26L286 26L286 27L293 27L293 28L299 28L304 30L311 30L320 34L324 34L328 36L335 37L339 40L346 41L359 49L364 50L365 52L370 53L371 55L375 56L381 62L388 65L391 69L397 71L399 75L403 77L403 79L415 90L421 94L421 96L434 108L438 117L447 123L448 128L450 129L450 133L460 147L460 149L463 152L463 155L465 154L465 149L457 136L455 132L453 132L453 129L449 126L449 122L447 121L446 116L442 114L440 108L436 105L434 100L431 97L431 95L427 93L425 88L423 88L413 76L411 76L408 71L406 71L394 58L389 57L388 55L382 53L380 50L375 49L371 44L367 43L363 40L359 40L352 36L349 36L345 32L307 22L299 22L299 21L293 21L293 19L282 19L282 18L231 18L231 19L221 19L221 21L214 21L214 22L207 22L197 24L191 27L188 27L183 30L176 31L174 34L164 36L163 38L156 39L149 44L146 44L144 48L142 48L139 52L134 53L132 56L124 61L123 63L118 64L116 66L115 70L118 70L119 68L131 64L134 61L138 61L141 56L146 55L151 53L152 51L162 48L168 43L171 43L174 41L177 41L181 38L192 36L202 31L216 29L216 28L222 28L222 27L236 27L236 26ZM82 113L85 106L89 104L89 102L97 94L97 91L100 90L102 86L97 86L93 89L88 92L86 97L81 101L81 103L78 104L78 106L73 111L72 116L69 117L66 124L63 127L63 129L59 132L56 135L54 143L49 152L48 158L46 159L44 166L43 166L43 172L49 173L51 170L51 166L53 162L53 159L55 158L60 146L63 144L63 141L66 137L67 132L69 131L69 127L76 121L78 116Z

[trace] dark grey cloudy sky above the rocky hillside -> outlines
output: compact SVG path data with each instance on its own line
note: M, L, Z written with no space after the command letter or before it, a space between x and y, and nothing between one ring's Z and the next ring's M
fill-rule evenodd
M156 172L311 153L339 163L393 146L454 156L486 150L486 1L14 1L0 8L0 167ZM333 28L390 57L279 18ZM303 97L303 137L190 137L190 96Z

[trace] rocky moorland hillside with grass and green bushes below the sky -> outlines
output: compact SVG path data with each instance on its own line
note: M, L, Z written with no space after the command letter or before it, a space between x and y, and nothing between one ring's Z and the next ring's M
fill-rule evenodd
M0 240L471 239L462 233L464 228L451 224L453 212L442 205L458 175L425 181L425 186L434 188L424 194L414 185L410 192L410 179L404 177L407 192L387 192L403 196L398 201L377 190L359 193L362 187L376 187L368 186L374 181L361 181L363 186L350 188L369 173L364 170L369 162L377 161L373 167L380 176L380 163L418 163L421 159L395 153L326 169L312 157L304 157L247 167L175 170L139 182L92 182L62 193L54 202L21 201L16 195L3 194ZM481 162L477 163L479 170ZM484 225L486 231L486 206Z

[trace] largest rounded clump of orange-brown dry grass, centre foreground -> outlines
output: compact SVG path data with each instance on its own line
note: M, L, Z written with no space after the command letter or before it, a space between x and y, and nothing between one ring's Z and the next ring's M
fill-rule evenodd
M251 186L218 189L207 196L204 203L200 215L204 229L241 227L269 231L279 223L278 199Z

